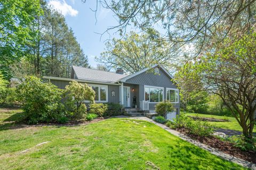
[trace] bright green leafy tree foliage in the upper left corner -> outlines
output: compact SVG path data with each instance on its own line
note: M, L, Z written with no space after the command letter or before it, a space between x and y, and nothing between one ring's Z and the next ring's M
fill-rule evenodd
M39 0L2 0L0 2L0 70L5 77L8 65L26 54L26 44L33 37L35 16L41 15Z

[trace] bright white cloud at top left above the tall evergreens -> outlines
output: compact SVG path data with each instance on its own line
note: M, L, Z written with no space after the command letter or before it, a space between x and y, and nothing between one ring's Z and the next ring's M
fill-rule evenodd
M55 10L61 12L64 16L76 16L78 14L78 11L72 6L68 5L65 0L50 0L48 4L51 5Z

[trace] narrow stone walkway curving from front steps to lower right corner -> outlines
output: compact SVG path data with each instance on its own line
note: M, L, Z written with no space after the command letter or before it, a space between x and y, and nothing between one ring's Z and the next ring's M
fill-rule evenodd
M207 145L205 145L205 144L203 144L201 142L198 142L196 140L193 140L193 139L187 137L186 135L184 135L184 134L182 134L182 133L180 133L178 131L170 129L169 127L167 127L167 126L165 126L163 124L157 123L157 122L151 120L148 117L145 117L145 116L137 116L137 117L116 116L116 117L118 117L118 118L131 118L131 119L135 119L135 120L142 120L142 121L148 121L148 122L154 123L157 126L163 128L164 130L170 132L171 134L173 134L173 135L175 135L175 136L177 136L177 137L179 137L179 138L181 138L183 140L186 140L186 141L188 141L190 143L193 143L194 145L196 145L196 146L198 146L198 147L200 147L200 148L202 148L204 150L207 150L207 151L211 152L213 155L216 155L216 156L221 157L223 159L229 160L230 162L242 165L244 167L256 170L256 164L247 162L246 160L243 160L241 158L237 158L237 157L225 154L222 151L219 151L218 149L215 149L215 148L212 148L210 146L207 146Z

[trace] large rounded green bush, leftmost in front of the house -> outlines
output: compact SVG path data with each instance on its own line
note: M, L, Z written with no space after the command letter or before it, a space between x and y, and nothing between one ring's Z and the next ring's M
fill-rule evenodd
M17 94L23 102L23 111L29 124L58 122L66 117L61 103L62 90L36 77L26 77Z

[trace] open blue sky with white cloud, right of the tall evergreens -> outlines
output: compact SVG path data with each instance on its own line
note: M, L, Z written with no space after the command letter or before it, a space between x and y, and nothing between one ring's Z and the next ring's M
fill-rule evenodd
M95 0L87 0L86 3L81 0L48 0L47 2L65 16L67 24L73 29L78 43L88 56L89 64L95 67L97 63L94 57L104 51L106 40L119 37L118 33L115 33L117 30L110 35L105 33L102 37L95 33L102 33L108 27L118 24L113 13L106 8L99 8L95 23L94 12L90 10L90 8L95 9Z

